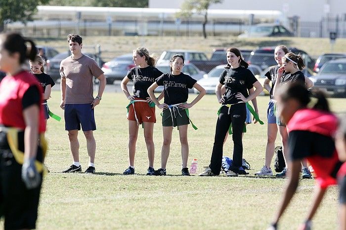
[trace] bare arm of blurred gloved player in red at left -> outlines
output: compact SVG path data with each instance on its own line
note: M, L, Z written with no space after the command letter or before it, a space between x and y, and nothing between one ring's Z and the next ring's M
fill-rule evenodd
M26 125L24 130L24 158L33 158L36 157L39 138L39 106L35 104L25 108L23 116Z

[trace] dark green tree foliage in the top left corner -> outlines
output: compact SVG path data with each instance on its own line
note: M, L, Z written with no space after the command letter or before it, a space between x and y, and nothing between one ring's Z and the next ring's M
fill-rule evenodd
M49 0L0 0L0 31L3 24L21 21L23 23L32 20L36 13L36 6L47 3Z

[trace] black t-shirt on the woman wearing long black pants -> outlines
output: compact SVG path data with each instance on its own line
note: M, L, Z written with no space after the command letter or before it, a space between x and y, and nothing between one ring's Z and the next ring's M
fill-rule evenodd
M225 102L222 104L232 105L242 102L242 100L235 97L238 93L242 93L244 97L249 96L248 89L253 87L257 78L249 69L238 67L236 69L224 69L218 80L221 84L224 84L226 88L224 94Z

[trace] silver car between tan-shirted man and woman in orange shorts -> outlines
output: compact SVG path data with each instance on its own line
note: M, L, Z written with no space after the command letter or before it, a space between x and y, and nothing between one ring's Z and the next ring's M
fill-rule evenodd
M106 77L107 84L113 84L115 80L122 80L133 67L135 67L133 54L127 53L103 64L102 71Z

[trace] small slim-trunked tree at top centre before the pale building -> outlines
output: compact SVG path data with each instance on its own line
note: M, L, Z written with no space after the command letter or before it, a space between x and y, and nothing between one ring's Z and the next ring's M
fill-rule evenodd
M211 4L221 3L222 0L185 0L181 4L181 11L177 17L190 17L194 12L204 16L203 37L207 38L206 25L208 22L208 9Z

